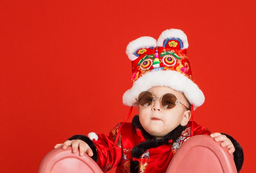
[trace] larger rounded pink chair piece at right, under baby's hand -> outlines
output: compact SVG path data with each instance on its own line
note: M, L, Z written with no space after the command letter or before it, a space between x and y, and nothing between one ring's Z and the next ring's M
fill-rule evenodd
M237 173L227 147L209 135L196 135L184 142L173 156L166 173Z

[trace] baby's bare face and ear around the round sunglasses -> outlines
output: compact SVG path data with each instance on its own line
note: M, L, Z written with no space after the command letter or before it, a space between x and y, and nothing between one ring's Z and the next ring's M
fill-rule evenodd
M150 135L156 138L162 138L167 135L178 125L185 126L190 119L190 111L187 110L182 104L189 107L189 102L185 96L170 87L153 87L148 90L153 94L155 102L148 107L138 105L139 108L139 121L142 127ZM162 96L166 93L171 93L176 96L177 103L173 109L165 109L161 106Z

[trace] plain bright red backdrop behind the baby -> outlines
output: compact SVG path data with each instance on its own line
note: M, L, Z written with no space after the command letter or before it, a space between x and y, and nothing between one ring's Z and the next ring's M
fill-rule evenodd
M132 86L126 45L170 28L187 34L206 97L195 121L237 139L241 173L254 170L255 7L255 0L1 0L1 172L37 172L56 143L123 121L122 95Z

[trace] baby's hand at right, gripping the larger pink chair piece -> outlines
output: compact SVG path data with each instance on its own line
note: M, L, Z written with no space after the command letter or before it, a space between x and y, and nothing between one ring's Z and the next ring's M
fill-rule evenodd
M222 135L220 133L211 133L211 138L214 138L214 140L216 142L222 141L222 143L220 144L220 146L225 147L227 146L229 148L228 153L232 154L235 152L235 147L232 144L231 140L229 140L229 138L227 138L227 136Z

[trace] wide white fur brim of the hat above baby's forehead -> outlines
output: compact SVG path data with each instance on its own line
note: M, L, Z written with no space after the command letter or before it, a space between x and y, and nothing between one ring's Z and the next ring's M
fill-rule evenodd
M152 87L164 86L170 87L176 91L182 92L194 109L204 103L204 94L198 88L197 84L181 73L173 70L149 71L136 80L132 88L123 95L123 103L127 106L135 104L135 98L143 91Z

